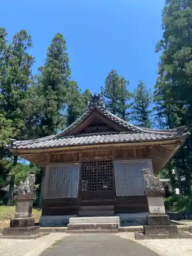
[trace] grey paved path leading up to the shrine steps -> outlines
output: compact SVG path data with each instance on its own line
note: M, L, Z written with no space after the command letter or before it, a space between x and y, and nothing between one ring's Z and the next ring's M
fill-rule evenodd
M158 256L134 241L109 233L73 234L46 249L41 256Z

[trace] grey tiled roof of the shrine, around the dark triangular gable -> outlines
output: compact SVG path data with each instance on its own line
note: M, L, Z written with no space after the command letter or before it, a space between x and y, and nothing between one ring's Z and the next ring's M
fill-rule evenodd
M97 109L102 115L109 118L111 121L118 123L126 129L126 132L114 133L95 133L69 136L68 133L82 123L91 113ZM106 111L98 103L94 103L91 108L86 111L74 123L68 126L65 130L57 135L51 135L40 139L14 141L9 148L22 150L32 148L51 148L51 147L65 147L65 146L78 146L78 145L93 145L104 143L123 143L123 142L142 142L142 141L159 141L179 138L187 135L185 127L170 130L153 130L144 129L126 122L119 117L116 117L109 111Z

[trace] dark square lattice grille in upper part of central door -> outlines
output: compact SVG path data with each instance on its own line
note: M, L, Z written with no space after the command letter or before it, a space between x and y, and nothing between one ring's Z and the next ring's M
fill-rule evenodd
M111 160L82 162L82 191L112 191L113 163Z

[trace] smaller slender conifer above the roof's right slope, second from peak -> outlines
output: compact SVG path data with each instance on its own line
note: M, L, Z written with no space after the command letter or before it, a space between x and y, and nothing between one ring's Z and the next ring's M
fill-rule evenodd
M132 98L132 121L139 126L151 127L152 110L150 109L150 105L152 103L152 96L150 90L146 89L143 81L139 81L137 88L132 94Z

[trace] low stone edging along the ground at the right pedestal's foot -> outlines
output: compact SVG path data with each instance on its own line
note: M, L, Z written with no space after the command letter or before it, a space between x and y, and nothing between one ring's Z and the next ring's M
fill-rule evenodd
M183 239L192 238L192 235L187 232L179 231L177 234L144 234L143 232L135 232L135 240L145 239Z

